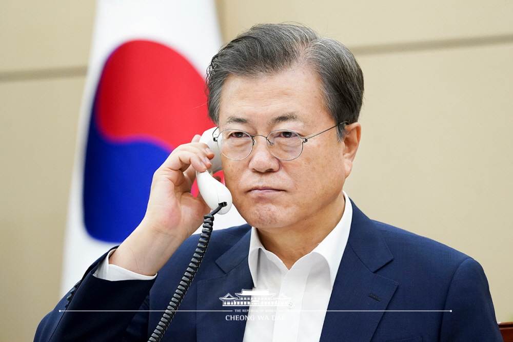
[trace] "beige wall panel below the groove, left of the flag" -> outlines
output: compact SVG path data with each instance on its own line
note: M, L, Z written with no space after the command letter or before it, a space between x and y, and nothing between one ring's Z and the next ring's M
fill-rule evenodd
M0 340L29 341L59 299L85 79L0 84Z

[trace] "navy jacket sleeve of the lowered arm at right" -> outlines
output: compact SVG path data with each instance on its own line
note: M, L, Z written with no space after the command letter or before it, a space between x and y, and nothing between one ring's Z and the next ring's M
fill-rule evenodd
M441 342L502 342L495 318L488 281L483 268L472 259L465 259L454 275L446 297Z

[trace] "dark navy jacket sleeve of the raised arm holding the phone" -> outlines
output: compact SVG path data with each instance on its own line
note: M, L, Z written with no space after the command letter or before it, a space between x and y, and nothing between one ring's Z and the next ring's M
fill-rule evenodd
M43 318L34 342L124 340L154 279L110 281L96 278L93 273L105 255L89 267L82 280ZM128 340L136 339L128 337Z

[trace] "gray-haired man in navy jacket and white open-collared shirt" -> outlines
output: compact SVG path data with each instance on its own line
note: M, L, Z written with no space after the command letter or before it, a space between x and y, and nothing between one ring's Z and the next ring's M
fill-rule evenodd
M163 340L501 340L475 260L370 220L343 192L363 98L344 46L302 26L255 26L213 57L207 82L226 185L249 225L212 234ZM36 340L148 339L209 211L190 189L212 158L199 136L170 154L139 227L91 266ZM223 307L248 290L274 297Z

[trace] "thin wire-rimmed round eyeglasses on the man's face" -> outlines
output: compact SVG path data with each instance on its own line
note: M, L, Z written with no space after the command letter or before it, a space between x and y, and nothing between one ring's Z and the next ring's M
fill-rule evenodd
M265 136L261 134L250 135L236 129L226 129L221 131L218 136L213 136L213 139L214 142L218 143L221 153L232 160L242 160L251 154L255 144L255 136L262 136L266 139L267 148L273 156L281 160L293 160L301 155L303 144L308 142L309 139L344 124L347 124L347 122L339 123L307 138L289 130L273 131Z

